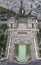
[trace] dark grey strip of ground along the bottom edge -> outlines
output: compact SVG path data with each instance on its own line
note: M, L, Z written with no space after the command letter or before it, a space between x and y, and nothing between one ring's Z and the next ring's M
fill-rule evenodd
M9 61L4 61L4 62L1 62L0 65L41 65L41 61L34 61L34 62L29 62L29 63L26 63L26 64L18 64L18 63L15 63L15 62L9 62Z

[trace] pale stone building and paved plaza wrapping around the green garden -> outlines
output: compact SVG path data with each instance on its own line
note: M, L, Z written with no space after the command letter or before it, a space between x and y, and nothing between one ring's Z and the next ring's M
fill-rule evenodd
M16 22L18 23L18 26ZM36 45L35 39L36 39L36 33L38 31L38 28L37 28L38 22L36 20L33 20L34 25L32 24L31 19L26 20L27 23L25 22L25 20L17 20L16 22L10 21L7 23L7 25L9 26L8 39L9 39L9 44L10 44L8 48L8 54L7 54L8 59L10 61L14 61L14 44L16 41L23 41L24 43L26 41L29 41L30 48L31 48L31 60L35 61L37 59L37 49L35 46ZM15 23L16 23L16 27L14 27ZM26 24L26 27L24 23Z

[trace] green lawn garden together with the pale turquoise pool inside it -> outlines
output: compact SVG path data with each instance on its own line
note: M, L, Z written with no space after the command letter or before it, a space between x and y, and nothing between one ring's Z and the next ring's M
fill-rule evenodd
M26 62L31 59L30 44L20 42L15 44L14 59L18 62Z

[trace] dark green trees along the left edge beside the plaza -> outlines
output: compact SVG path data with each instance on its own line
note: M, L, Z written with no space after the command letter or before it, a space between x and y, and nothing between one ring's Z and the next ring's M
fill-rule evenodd
M5 31L7 28L8 28L8 26L6 24L2 24L0 26L0 54L1 54L2 48L3 48L4 54L6 51L6 43L7 43L8 34L5 35ZM2 31L1 31L1 29L2 29ZM5 56L4 54L2 55L3 57Z

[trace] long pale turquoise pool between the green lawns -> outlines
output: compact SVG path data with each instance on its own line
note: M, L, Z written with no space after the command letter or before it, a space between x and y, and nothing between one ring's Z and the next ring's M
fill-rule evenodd
M18 61L25 61L26 60L26 45L25 44L20 44L18 47Z

